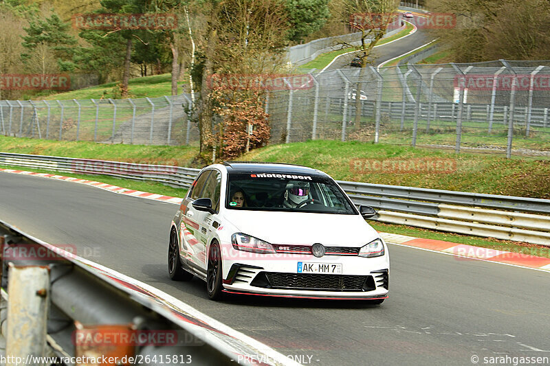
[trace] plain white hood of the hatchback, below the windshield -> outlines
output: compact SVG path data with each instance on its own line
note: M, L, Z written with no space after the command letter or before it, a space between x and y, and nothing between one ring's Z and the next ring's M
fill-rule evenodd
M237 231L272 244L361 247L380 237L360 215L231 210L224 216Z

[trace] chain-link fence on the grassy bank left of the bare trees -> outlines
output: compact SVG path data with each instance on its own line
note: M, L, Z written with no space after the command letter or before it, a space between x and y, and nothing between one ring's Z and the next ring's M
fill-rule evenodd
M0 133L109 144L181 145L198 140L188 95L140 99L1 100Z

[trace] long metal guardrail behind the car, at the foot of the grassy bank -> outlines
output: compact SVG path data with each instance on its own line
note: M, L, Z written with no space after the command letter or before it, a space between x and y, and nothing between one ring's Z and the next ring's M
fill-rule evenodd
M104 174L188 187L199 169L0 153L0 165ZM379 210L375 220L550 245L550 200L338 181L356 205ZM477 208L481 207L481 208ZM519 230L519 231L518 231Z

